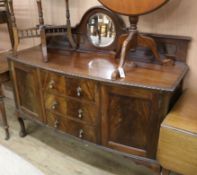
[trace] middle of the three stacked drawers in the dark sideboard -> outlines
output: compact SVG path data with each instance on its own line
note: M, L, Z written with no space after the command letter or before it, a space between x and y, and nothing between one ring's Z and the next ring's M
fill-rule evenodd
M97 125L98 123L98 108L92 103L82 103L46 93L45 107L47 110L81 120L91 125Z

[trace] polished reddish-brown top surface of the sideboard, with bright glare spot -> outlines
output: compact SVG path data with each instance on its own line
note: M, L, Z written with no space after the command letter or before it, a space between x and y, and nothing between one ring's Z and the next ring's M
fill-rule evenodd
M126 78L113 81L111 74L118 65L113 54L68 51L64 53L51 52L48 57L49 62L44 63L41 48L34 47L20 51L17 56L11 55L8 58L68 76L169 92L176 89L188 71L188 66L182 62L176 62L174 66L138 62L137 67L134 68L127 62Z

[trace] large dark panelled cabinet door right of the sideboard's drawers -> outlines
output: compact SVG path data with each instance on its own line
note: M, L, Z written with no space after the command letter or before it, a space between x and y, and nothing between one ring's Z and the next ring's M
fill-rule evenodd
M153 158L159 132L158 96L136 88L102 87L102 144Z

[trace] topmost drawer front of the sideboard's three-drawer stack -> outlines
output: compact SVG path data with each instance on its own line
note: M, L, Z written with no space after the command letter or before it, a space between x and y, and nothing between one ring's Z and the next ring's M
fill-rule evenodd
M92 80L66 78L57 73L42 71L43 90L61 96L96 101L97 83Z

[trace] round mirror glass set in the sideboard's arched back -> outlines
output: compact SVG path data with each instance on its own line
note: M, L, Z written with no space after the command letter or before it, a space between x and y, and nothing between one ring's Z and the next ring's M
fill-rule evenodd
M88 37L96 47L110 46L116 38L116 29L112 19L103 13L96 13L89 18Z

